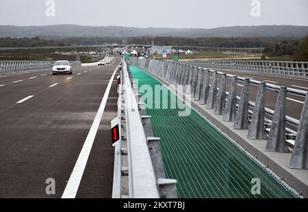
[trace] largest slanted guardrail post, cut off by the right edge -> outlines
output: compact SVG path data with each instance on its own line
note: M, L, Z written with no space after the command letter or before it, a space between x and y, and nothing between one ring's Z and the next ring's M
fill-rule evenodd
M290 168L308 170L308 93L300 116Z

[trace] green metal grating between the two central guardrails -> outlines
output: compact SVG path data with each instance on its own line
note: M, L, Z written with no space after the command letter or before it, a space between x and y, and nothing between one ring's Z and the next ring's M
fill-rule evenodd
M138 79L139 88L147 85L154 90L155 85L162 85L139 68L130 66L130 70L133 78ZM154 135L161 137L166 176L177 179L180 198L298 197L196 111L192 109L189 116L178 116L178 107L170 109L178 98L172 92L161 95L153 92L153 98L144 101L148 105L156 101L162 106L162 98L168 99L169 109L146 109L146 113L152 116ZM261 194L251 193L253 178L260 179Z

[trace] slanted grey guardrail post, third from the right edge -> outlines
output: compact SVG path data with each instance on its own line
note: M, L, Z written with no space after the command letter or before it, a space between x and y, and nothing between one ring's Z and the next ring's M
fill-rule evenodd
M265 112L265 95L266 83L261 82L255 101L255 109L253 110L253 118L248 127L248 138L251 139L266 139L264 132L264 112Z

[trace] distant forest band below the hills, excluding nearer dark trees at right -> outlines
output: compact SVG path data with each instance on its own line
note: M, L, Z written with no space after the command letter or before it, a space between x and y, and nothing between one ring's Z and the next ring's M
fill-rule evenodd
M0 38L0 47L64 47L72 45L99 45L105 43L122 44L123 40L129 44L155 44L164 46L193 46L193 47L233 47L233 48L258 48L270 47L283 41L285 38L255 37L255 38L181 38L181 37L93 37L93 38ZM287 42L296 42L289 38Z

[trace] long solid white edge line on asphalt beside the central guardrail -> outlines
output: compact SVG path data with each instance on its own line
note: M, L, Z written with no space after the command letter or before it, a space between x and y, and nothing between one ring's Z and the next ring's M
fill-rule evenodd
M86 141L84 142L84 146L82 146L81 148L81 152L76 161L73 172L72 174L70 174L70 178L68 180L68 183L66 184L66 187L64 189L64 192L61 198L75 198L77 194L77 190L78 190L82 175L84 174L84 169L86 168L86 164L88 161L88 157L90 155L90 151L91 151L95 136L97 135L97 130L99 129L99 123L101 122L101 118L105 110L105 105L107 103L107 99L110 93L112 82L114 80L114 75L116 75L116 70L114 70L114 73L112 74L112 77L110 78L110 81L105 90L105 94L101 101L101 105L99 106L99 110L97 111L97 116L95 116L94 118L91 129L88 133Z

